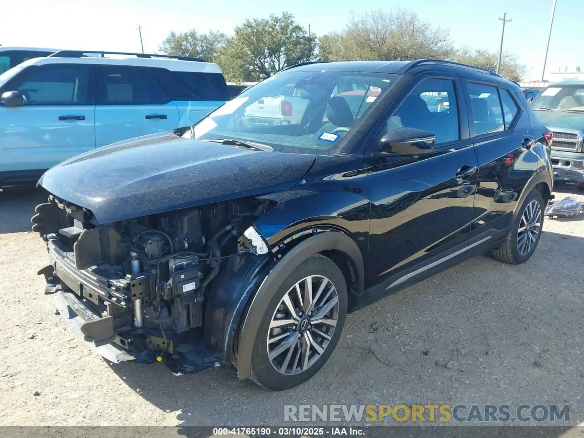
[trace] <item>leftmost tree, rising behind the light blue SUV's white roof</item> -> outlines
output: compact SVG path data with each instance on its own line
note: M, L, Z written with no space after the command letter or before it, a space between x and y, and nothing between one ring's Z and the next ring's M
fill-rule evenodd
M225 39L224 33L213 30L209 33L198 33L194 29L180 33L172 31L162 41L159 50L169 55L192 56L214 62Z

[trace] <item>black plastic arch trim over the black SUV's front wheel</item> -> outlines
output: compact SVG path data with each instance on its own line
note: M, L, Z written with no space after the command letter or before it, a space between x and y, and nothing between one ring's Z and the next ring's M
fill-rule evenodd
M259 330L261 318L267 309L267 305L276 293L280 284L296 269L300 263L313 254L327 251L338 250L345 253L353 260L357 271L357 292L363 292L364 284L364 266L363 255L359 246L352 238L342 232L323 232L311 236L290 249L278 262L261 282L258 291L252 298L251 307L241 331L241 339L238 346L237 370L239 380L249 377L251 372L251 358L253 343ZM347 285L348 288L348 285ZM245 307L244 303L244 307Z

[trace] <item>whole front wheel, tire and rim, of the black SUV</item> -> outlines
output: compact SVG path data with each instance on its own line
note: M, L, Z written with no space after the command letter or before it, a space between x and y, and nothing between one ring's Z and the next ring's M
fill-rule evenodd
M300 297L306 298L307 278L310 278L315 303L310 316L305 314L310 310L304 304L305 299L303 306L300 306L296 287L298 285ZM322 283L325 286L321 287ZM290 305L298 319L289 310ZM320 254L310 256L283 281L262 316L253 344L250 379L260 387L273 391L288 390L304 383L331 356L345 325L346 315L347 285L343 273L331 259ZM281 328L284 320L294 323ZM334 326L329 325L335 320ZM326 324L319 321L326 321ZM272 338L270 343L269 337ZM310 348L307 349L307 346ZM269 354L272 354L271 359Z

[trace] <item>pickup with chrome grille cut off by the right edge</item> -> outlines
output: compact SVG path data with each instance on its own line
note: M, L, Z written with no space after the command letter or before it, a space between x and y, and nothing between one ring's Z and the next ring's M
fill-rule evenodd
M551 84L530 107L554 133L551 160L556 182L584 189L584 81Z

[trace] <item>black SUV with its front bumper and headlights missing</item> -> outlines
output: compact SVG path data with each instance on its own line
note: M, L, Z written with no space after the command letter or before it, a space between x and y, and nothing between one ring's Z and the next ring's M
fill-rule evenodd
M193 127L47 171L32 219L51 260L40 273L111 361L234 364L291 388L331 356L347 312L479 252L528 260L551 141L491 71L298 65Z

